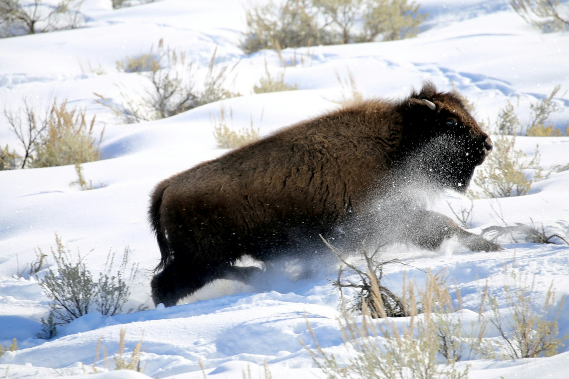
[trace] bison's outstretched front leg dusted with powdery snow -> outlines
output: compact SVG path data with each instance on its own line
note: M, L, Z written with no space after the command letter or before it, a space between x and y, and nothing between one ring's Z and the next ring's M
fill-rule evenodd
M418 211L410 229L411 242L422 248L435 250L447 238L456 236L460 244L475 251L497 252L500 245L460 228L450 217L432 211ZM409 229L408 229L409 230Z

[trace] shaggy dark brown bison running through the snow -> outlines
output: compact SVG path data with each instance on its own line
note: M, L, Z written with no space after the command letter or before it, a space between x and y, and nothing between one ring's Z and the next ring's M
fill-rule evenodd
M174 306L214 279L245 281L260 269L235 266L244 255L311 259L319 234L361 241L369 232L361 225L428 249L456 236L472 250L499 250L406 201L386 211L383 226L369 222L382 219L377 199L397 197L411 180L465 191L490 150L460 97L425 83L401 101L345 106L200 163L152 192L150 223L162 254L152 299Z

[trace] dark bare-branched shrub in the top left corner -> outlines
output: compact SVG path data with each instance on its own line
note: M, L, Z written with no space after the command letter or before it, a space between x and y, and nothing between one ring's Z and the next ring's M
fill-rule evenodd
M0 36L17 36L55 30L73 29L84 16L72 5L82 0L60 0L57 5L40 0L0 0Z

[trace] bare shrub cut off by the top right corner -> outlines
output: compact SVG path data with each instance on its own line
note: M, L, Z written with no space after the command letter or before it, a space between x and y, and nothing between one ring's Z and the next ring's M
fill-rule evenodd
M525 22L543 32L569 28L569 12L559 0L510 0L510 5Z

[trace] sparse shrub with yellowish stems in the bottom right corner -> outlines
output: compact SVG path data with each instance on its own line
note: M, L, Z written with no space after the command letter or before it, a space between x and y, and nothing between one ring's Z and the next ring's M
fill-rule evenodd
M488 293L488 283L484 289L483 306L489 314L485 318L500 336L500 339L489 342L490 347L498 350L486 350L486 356L490 359L521 359L556 355L557 349L567 338L559 337L558 324L564 296L555 311L553 283L541 303L537 296L535 277L530 283L528 275L519 273L515 263L514 267L507 269L506 274L509 279L509 283L503 287L506 308L500 307L497 296ZM551 315L552 312L555 316L547 320L546 315Z

